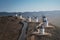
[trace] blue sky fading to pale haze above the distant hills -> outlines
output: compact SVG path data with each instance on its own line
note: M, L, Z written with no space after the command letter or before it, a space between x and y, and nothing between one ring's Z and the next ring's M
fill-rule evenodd
M60 10L60 0L0 0L0 12Z

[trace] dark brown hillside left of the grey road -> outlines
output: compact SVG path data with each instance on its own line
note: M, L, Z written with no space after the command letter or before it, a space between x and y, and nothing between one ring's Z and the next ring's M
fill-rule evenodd
M21 33L22 24L17 17L0 17L0 40L17 40Z

